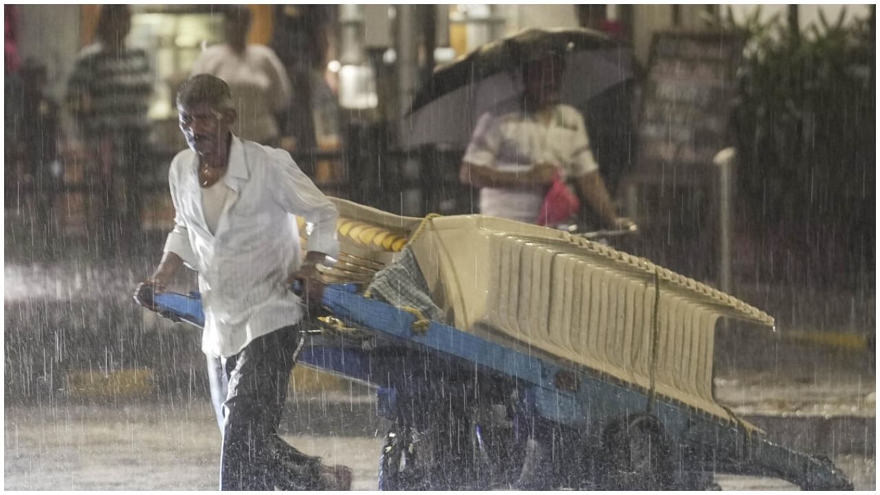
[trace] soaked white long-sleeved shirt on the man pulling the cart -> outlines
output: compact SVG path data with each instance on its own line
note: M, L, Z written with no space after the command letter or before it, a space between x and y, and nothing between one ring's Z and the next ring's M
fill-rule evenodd
M172 160L168 182L175 225L165 251L199 272L202 351L230 357L253 339L302 318L299 298L283 284L301 262L294 215L313 225L309 250L335 257L337 212L287 151L233 136L222 179L231 191L212 234L198 166L197 155L188 149Z

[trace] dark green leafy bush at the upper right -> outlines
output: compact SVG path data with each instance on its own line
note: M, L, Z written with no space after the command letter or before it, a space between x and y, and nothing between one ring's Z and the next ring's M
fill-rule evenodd
M760 20L759 8L723 21L747 39L737 175L756 227L846 224L874 202L874 20L819 16L800 32L778 15Z

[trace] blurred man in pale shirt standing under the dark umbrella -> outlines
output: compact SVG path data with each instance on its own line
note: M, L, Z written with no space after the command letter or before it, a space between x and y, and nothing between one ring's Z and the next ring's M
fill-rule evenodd
M520 108L480 117L459 179L480 188L481 214L546 225L554 222L546 215L548 188L558 193L572 178L605 225L634 230L631 220L617 216L590 151L583 116L560 103L564 70L558 51L524 64Z

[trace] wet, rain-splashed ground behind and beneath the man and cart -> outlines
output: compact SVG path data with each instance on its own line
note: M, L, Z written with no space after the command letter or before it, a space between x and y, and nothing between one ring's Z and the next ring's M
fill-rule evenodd
M145 240L141 251L158 254L160 246L160 238ZM82 249L73 246L51 263L7 250L4 488L213 490L219 432L200 333L131 300L158 255L96 262ZM193 288L191 272L171 287ZM797 343L782 333L719 331L716 397L772 440L824 454L856 489L872 490L873 355ZM374 408L369 389L327 381L291 396L282 431L310 454L351 466L356 490L375 490L386 425ZM716 481L729 490L796 488L769 478Z

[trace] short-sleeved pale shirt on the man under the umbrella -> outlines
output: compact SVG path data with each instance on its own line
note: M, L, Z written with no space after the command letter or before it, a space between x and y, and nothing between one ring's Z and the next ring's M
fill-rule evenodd
M583 116L574 107L556 105L548 124L537 115L511 112L480 117L464 161L506 172L526 172L540 163L560 169L561 177L580 177L598 170L590 151ZM533 224L546 188L481 188L480 213Z

